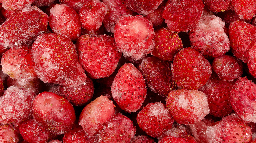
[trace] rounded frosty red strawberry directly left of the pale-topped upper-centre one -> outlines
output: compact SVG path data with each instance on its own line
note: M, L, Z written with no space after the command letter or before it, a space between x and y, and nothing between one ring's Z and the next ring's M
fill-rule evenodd
M121 57L114 39L107 35L82 35L76 41L76 48L79 61L91 78L110 76Z

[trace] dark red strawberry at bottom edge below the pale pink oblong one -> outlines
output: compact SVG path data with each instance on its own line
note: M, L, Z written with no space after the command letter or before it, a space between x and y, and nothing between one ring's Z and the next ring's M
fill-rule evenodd
M63 136L63 143L96 143L97 137L90 136L81 126L75 124L74 127Z

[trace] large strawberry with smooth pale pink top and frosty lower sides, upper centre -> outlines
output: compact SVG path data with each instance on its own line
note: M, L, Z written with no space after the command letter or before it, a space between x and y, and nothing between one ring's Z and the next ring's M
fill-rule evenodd
M114 38L117 51L125 57L135 60L152 52L154 41L152 22L143 16L120 16L116 25Z

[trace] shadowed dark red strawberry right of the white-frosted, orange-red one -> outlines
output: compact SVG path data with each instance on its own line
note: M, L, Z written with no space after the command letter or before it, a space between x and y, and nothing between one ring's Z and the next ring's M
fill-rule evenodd
M231 114L230 91L234 84L234 82L223 81L214 74L207 83L199 89L207 96L211 115L224 117Z

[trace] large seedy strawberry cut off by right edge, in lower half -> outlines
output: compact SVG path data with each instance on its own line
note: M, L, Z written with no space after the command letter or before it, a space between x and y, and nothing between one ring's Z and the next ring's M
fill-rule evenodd
M230 102L233 110L245 121L256 122L256 85L246 77L237 79L230 91Z

